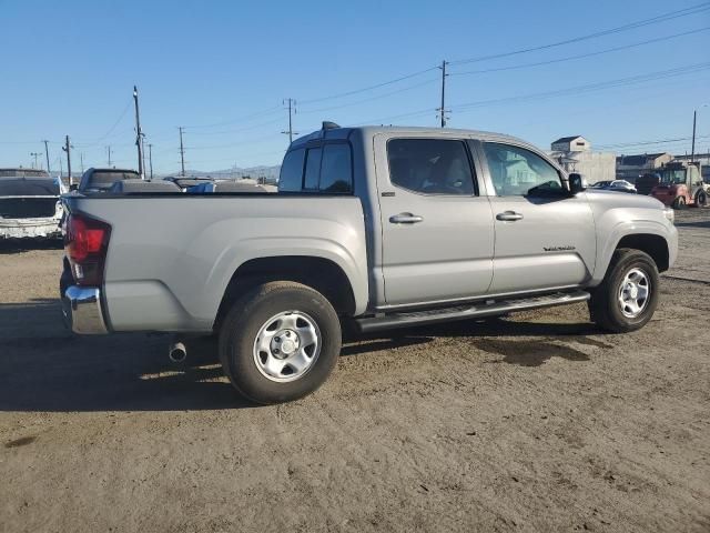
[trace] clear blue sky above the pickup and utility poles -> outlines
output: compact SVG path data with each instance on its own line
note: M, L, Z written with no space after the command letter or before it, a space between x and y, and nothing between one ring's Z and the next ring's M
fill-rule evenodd
M452 62L453 128L511 133L541 148L558 137L584 134L617 153L682 153L690 150L684 138L693 109L710 102L710 30L703 30L710 28L710 10L532 52L456 61L574 39L700 3L0 0L0 167L30 165L30 153L43 152L40 141L49 139L54 170L69 134L74 169L80 154L87 168L104 165L106 145L115 164L134 168L134 83L156 172L180 167L179 125L185 127L187 168L278 163L287 144L282 101L290 97L297 101L294 124L301 133L322 120L436 125L440 72L435 67L444 59ZM663 40L524 67L653 39ZM639 83L589 88L691 66ZM508 67L516 68L464 74ZM565 91L575 87L587 89ZM515 99L550 91L560 93ZM699 147L708 150L710 107L699 111ZM630 144L666 139L681 140Z

